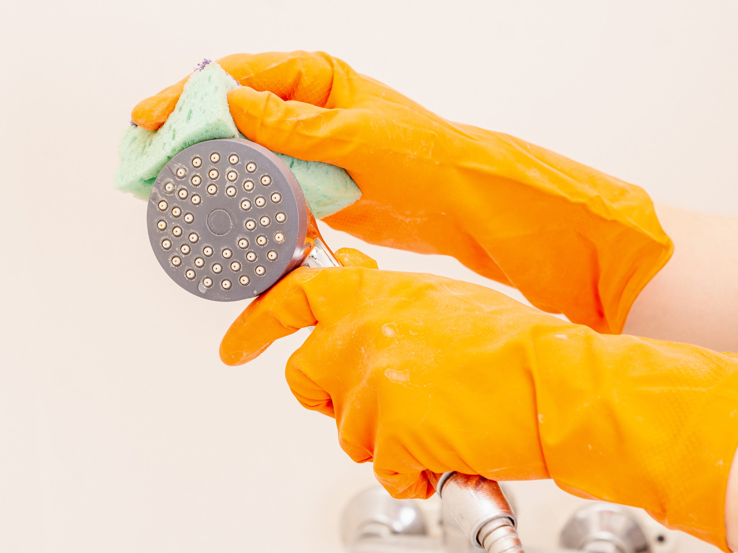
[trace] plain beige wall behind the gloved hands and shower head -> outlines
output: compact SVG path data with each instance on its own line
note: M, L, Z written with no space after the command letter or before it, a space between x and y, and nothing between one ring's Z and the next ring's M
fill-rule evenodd
M342 504L373 483L287 389L305 335L221 366L244 304L190 296L157 265L145 204L111 189L139 99L204 57L323 49L450 119L738 214L737 27L736 1L5 5L0 551L337 553ZM502 289L449 258L359 246ZM550 542L572 501L516 490L523 537Z

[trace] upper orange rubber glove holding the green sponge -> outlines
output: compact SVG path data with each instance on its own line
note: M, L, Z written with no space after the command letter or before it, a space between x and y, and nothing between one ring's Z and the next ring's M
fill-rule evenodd
M672 243L646 193L502 133L447 121L322 52L218 60L241 133L345 168L362 198L325 222L370 243L447 254L542 310L619 333ZM186 80L186 79L185 79ZM184 82L143 100L154 130Z

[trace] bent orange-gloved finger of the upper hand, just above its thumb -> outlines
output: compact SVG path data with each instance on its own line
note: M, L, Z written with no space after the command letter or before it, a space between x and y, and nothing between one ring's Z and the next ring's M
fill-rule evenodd
M234 54L217 63L241 86L324 107L334 84L336 61L325 52L299 50Z

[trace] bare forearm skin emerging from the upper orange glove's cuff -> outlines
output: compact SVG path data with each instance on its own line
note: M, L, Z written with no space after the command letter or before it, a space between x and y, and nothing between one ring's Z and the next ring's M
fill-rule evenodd
M738 352L738 217L656 212L674 255L638 296L624 333Z

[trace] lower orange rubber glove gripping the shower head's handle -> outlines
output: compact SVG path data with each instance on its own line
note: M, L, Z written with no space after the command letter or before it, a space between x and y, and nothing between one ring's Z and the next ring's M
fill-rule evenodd
M430 473L542 479L644 507L726 548L738 355L599 335L501 293L430 274L299 268L221 343L229 365L317 325L286 378L396 497Z

